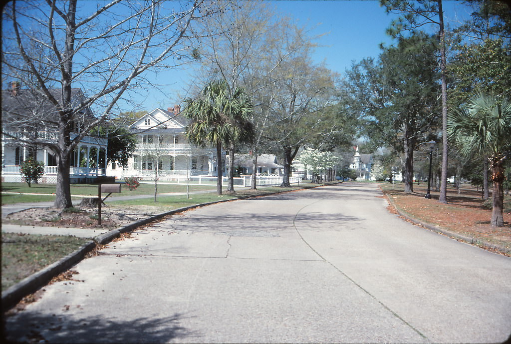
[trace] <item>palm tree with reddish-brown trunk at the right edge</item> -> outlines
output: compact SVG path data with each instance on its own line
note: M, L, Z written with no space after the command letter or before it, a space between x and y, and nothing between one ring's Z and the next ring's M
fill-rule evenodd
M495 96L477 95L466 109L449 116L448 135L466 156L486 153L493 181L492 226L504 225L504 159L511 148L511 102Z

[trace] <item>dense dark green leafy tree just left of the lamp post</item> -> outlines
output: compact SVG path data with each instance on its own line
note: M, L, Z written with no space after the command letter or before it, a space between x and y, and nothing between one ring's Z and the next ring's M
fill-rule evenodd
M348 110L360 113L364 133L379 147L401 152L405 192L413 192L413 155L438 125L435 45L424 33L402 38L375 62L355 64L345 87Z

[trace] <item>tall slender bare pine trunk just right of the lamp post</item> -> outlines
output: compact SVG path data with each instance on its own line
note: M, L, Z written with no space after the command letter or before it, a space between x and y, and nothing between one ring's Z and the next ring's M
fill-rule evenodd
M448 140L447 135L447 72L446 72L446 41L444 31L444 12L442 10L442 0L438 0L438 23L440 37L440 79L442 80L442 179L440 180L440 203L447 203L447 163L448 163Z

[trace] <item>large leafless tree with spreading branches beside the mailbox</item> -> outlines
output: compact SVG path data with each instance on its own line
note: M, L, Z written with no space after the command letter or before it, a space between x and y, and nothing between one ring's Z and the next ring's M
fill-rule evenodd
M23 130L43 120L48 130L58 132L57 142L37 136L24 142L55 152L55 207L73 205L69 165L71 153L83 137L111 113L120 112L116 104L130 101L135 80L147 85L145 72L172 68L190 58L191 24L198 7L204 7L202 1L113 0L98 6L90 6L90 2L80 6L78 0L11 1L4 7L2 77L21 80L34 99L53 109L51 118L45 118L48 113L35 113L17 125ZM175 59L169 59L172 57ZM73 97L77 87L86 89L87 94ZM91 107L97 115L85 121L84 114L90 113ZM75 136L73 122L83 123Z

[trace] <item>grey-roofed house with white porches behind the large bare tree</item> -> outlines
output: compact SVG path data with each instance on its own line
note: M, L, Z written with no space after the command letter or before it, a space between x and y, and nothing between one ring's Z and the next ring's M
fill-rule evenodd
M62 97L61 89L50 89L55 99ZM84 98L80 88L72 89L73 102ZM45 143L57 143L59 132L55 106L44 98L38 100L28 89L21 89L13 82L11 89L2 90L2 181L22 181L20 165L33 158L44 164L44 175L39 182L57 182L55 152ZM73 119L73 140L86 121L94 115L84 108ZM69 177L71 183L93 182L106 176L107 138L89 134L80 141L71 155Z

